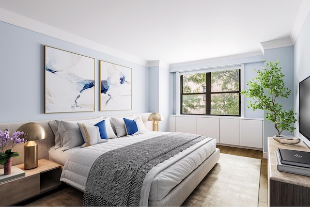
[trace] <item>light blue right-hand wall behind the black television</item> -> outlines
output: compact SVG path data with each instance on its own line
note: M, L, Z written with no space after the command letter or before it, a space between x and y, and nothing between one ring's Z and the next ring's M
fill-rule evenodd
M294 45L294 111L297 112L294 136L301 138L310 146L310 142L299 133L299 82L310 76L310 15L306 18Z

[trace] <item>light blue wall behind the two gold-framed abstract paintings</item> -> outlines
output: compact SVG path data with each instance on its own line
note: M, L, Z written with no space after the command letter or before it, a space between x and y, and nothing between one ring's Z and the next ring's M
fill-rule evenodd
M0 122L149 111L149 68L0 21ZM44 46L95 58L95 111L44 113ZM99 60L132 68L132 110L99 111Z

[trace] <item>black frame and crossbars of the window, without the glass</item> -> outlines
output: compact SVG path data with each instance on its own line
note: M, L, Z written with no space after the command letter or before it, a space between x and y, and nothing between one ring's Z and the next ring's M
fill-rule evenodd
M202 72L206 74L206 92L202 93L183 93L183 76L180 76L180 91L181 91L181 102L180 102L180 114L186 114L186 115L210 115L210 116L239 116L241 117L241 69L233 69L233 70L239 70L239 91L224 91L224 92L211 92L211 73L214 72ZM225 70L222 70L225 71ZM197 74L202 74L202 73L197 73ZM195 73L193 73L195 74ZM191 75L191 74L188 74ZM212 94L235 94L237 93L239 96L239 115L227 115L227 114L211 114L211 95ZM183 95L204 95L205 96L205 113L200 114L200 113L183 113Z

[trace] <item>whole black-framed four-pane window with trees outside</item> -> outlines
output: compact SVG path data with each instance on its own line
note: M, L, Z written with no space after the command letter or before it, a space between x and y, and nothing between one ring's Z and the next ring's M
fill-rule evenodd
M184 74L181 114L240 116L240 69Z

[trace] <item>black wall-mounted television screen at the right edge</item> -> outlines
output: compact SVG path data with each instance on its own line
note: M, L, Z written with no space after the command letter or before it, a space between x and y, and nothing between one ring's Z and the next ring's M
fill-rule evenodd
M299 83L299 132L310 140L310 77Z

